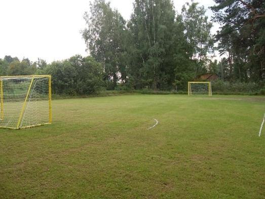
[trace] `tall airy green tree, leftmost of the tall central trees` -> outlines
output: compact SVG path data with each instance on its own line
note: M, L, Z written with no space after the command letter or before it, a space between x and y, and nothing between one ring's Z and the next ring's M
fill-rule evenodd
M113 89L119 79L126 79L126 62L124 61L124 38L126 21L117 10L110 8L105 0L95 0L90 4L90 12L84 19L88 27L83 31L90 54L104 68L107 82Z

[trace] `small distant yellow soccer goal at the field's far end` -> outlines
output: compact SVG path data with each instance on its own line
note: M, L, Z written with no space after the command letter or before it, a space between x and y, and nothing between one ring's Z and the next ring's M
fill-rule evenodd
M188 95L208 94L212 96L211 82L188 82Z

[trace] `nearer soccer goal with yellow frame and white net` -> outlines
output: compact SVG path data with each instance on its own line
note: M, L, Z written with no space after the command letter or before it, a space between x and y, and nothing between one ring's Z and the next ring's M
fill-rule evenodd
M51 76L0 77L0 127L51 123Z

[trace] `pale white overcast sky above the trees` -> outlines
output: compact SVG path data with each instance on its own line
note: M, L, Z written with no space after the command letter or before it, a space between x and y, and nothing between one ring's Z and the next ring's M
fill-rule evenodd
M189 0L174 0L180 12ZM5 55L61 60L75 54L88 55L80 31L86 27L83 15L90 0L0 0L0 58ZM133 0L110 0L125 19L130 18ZM197 0L205 8L213 0ZM207 15L211 16L211 11ZM218 29L215 24L213 32Z

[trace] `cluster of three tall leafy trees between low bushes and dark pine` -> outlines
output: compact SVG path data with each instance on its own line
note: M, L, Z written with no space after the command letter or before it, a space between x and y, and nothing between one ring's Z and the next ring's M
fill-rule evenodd
M186 4L175 13L170 0L135 0L129 21L96 0L85 14L88 50L103 64L105 75L131 89L185 88L208 72L213 38L206 10ZM111 73L109 72L111 70Z

